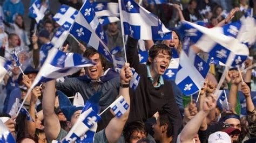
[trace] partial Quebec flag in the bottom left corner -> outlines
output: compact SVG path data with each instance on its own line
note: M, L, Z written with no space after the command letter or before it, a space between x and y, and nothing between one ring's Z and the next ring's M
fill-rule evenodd
M0 120L0 142L16 142L9 129Z

